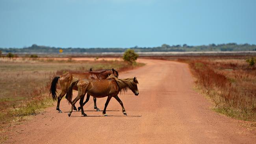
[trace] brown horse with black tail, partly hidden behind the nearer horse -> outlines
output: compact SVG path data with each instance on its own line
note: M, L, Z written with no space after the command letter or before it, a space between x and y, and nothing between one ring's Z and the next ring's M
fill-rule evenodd
M74 79L106 79L111 74L118 77L118 72L116 70L114 70L114 68L112 68L112 70L106 69L106 70L98 70L98 71L92 71L90 69L89 72L84 72L84 73L74 73L73 72L73 73L66 73L61 76L56 76L52 80L51 87L49 90L50 94L52 94L53 100L56 101L56 98L57 98L56 85L59 80L59 83L61 85L61 93L58 96L58 103L57 103L56 110L58 110L59 113L62 113L62 111L59 109L59 103L60 103L61 99L63 98L63 96L65 96L65 94L67 93L67 91L69 89L69 85L72 80L74 80ZM77 90L77 88L74 87L74 90ZM66 96L66 98L67 98L67 96ZM67 99L67 100L69 100L69 99ZM100 109L98 109L97 105L96 105L96 98L93 98L93 100L94 100L94 109L96 109L96 111L100 111ZM70 100L70 103L71 103L71 100ZM77 110L75 106L74 106L74 110Z

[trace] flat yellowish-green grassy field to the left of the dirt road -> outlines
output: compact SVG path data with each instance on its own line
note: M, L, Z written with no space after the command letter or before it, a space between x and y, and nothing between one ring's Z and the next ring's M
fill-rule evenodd
M50 82L54 76L69 71L85 72L90 68L124 71L143 64L129 65L124 61L74 61L33 59L33 58L0 58L0 124L22 121L24 116L36 115L52 106L48 94Z

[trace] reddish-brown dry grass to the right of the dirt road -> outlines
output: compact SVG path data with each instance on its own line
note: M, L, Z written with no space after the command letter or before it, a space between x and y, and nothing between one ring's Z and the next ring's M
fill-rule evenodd
M179 61L184 61L179 60ZM196 83L215 103L213 110L256 122L256 67L244 59L187 59Z

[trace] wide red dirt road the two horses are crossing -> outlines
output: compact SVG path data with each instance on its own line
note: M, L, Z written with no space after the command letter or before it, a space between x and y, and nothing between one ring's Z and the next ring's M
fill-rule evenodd
M256 131L246 122L210 110L211 103L193 90L193 78L184 63L139 59L146 66L120 74L137 76L139 96L132 92L120 99L128 116L112 98L108 117L93 110L93 98L81 112L57 113L56 105L16 126L4 143L255 143ZM76 96L74 92L74 96ZM106 98L98 98L102 110ZM78 106L78 103L76 104ZM68 112L64 99L60 109Z

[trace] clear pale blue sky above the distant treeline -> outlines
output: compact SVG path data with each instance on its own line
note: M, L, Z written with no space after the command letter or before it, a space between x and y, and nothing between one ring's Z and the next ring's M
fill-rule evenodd
M0 0L0 47L256 44L256 0Z

